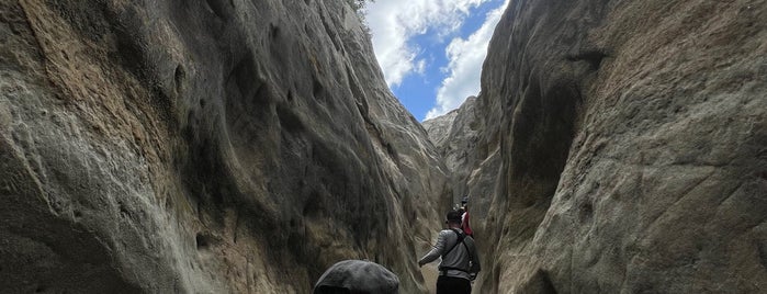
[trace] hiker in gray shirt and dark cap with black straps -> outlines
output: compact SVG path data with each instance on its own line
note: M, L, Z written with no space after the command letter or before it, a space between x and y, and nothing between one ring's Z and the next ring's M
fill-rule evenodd
M433 249L418 260L418 267L442 257L437 279L437 294L472 293L471 282L480 272L480 257L474 239L461 229L461 213L451 211L447 216L448 229L439 233Z

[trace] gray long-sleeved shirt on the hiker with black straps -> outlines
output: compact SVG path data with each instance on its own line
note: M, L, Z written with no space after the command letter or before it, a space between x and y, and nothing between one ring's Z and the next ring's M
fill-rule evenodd
M461 229L456 230L463 234ZM472 239L472 237L466 236L463 239L463 244L465 244L465 246L462 244L458 244L455 248L453 248L450 252L447 252L456 242L458 234L455 234L455 231L451 229L441 230L439 233L439 237L437 238L437 244L431 249L431 251L426 253L426 256L424 256L419 260L419 263L429 263L431 261L437 260L437 258L439 258L441 255L448 253L444 257L442 257L442 262L439 263L439 267L456 268L463 269L465 271L445 270L444 275L471 280L469 273L477 273L481 270L480 256L477 256L476 253L476 248L474 247L474 239Z

